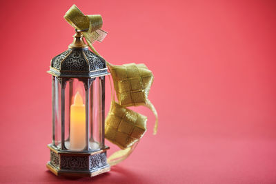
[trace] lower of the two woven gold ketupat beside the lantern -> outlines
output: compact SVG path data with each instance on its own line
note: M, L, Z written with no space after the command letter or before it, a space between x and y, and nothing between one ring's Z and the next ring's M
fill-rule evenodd
M105 136L121 149L132 146L146 132L147 117L112 101L106 117Z

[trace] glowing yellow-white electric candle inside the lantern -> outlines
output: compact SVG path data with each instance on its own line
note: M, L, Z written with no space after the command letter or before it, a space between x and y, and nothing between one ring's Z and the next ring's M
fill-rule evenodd
M86 108L81 94L75 94L70 113L70 149L82 150L86 145Z

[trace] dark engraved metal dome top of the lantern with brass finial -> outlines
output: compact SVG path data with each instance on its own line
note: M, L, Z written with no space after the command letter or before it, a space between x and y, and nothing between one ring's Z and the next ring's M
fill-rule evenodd
M60 77L89 78L109 74L106 61L88 50L88 45L83 42L82 34L78 31L68 50L51 60L48 73Z

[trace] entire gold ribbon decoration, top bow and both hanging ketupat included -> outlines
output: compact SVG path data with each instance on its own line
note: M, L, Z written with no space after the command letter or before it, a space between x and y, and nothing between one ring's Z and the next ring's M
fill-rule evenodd
M91 50L99 55L92 43L103 41L107 32L101 30L103 21L101 15L84 15L77 6L73 5L65 14L64 19L73 28L80 30ZM141 137L146 132L146 116L134 112L126 107L144 105L155 114L155 128L157 133L158 116L155 107L148 100L148 92L153 81L153 74L144 64L112 65L106 62L110 70L118 99L112 93L110 111L105 122L105 136L110 142L118 145L122 150L108 158L110 165L124 161L132 152ZM111 84L111 83L110 83Z

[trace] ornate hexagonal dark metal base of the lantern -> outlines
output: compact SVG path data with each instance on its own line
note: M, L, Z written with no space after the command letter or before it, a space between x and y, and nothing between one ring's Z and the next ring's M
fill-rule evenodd
M57 176L92 177L110 171L106 162L106 147L96 152L70 152L48 145L50 161L48 169Z

